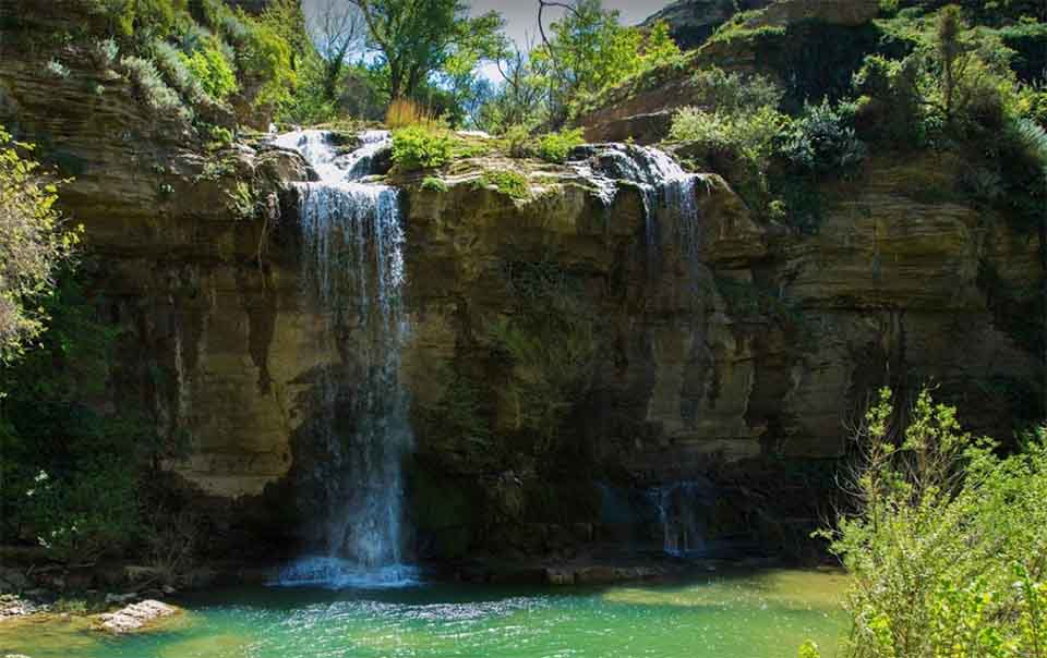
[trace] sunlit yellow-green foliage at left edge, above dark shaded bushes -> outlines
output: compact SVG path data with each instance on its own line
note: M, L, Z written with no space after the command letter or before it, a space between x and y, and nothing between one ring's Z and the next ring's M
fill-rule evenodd
M32 149L0 127L0 364L22 356L44 331L40 300L79 239L55 207L56 186L24 155Z

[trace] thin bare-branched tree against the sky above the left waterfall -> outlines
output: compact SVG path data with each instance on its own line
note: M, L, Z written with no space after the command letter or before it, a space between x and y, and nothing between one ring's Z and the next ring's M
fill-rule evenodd
M308 27L322 60L324 98L334 101L346 61L364 47L363 14L349 0L321 0Z

